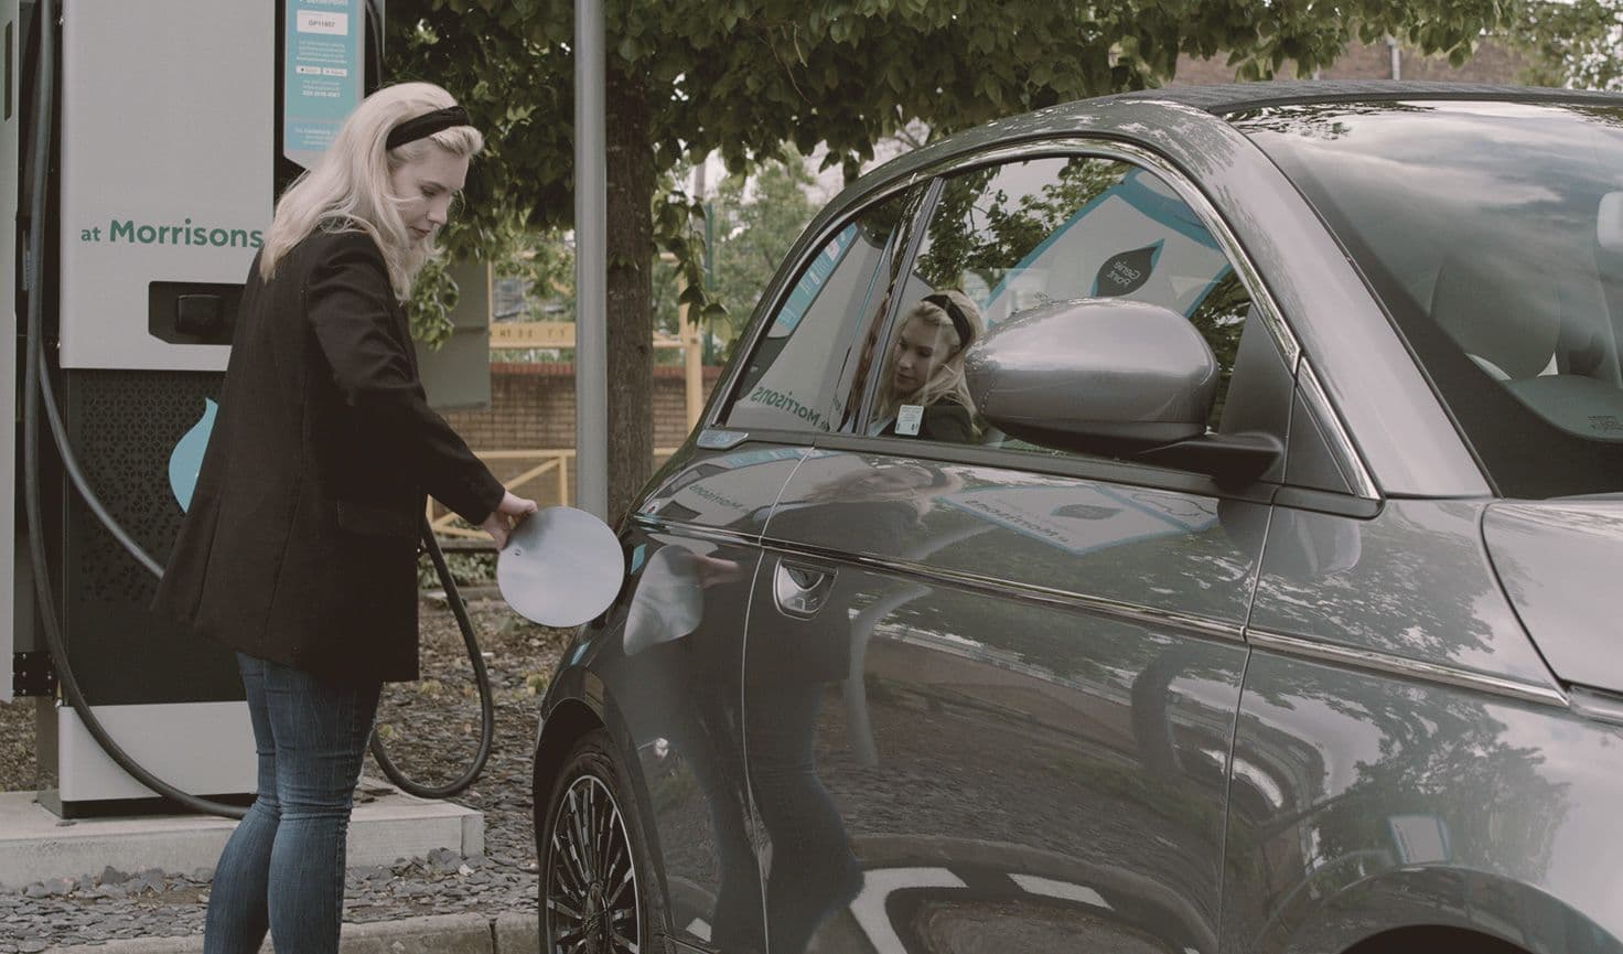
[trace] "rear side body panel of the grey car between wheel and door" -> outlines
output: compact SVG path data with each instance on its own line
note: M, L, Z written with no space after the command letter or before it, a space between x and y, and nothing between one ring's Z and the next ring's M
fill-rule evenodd
M760 949L761 887L737 732L743 607L758 537L799 451L695 441L656 475L622 534L626 584L594 639L641 779L644 834L677 939ZM743 912L742 917L730 912Z

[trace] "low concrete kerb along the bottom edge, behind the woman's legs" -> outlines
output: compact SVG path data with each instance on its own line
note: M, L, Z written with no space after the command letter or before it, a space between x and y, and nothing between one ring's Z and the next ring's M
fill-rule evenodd
M433 915L398 922L344 925L341 954L536 954L540 928L532 913ZM45 948L41 954L200 954L203 938L144 938L73 948ZM273 954L266 939L260 954Z

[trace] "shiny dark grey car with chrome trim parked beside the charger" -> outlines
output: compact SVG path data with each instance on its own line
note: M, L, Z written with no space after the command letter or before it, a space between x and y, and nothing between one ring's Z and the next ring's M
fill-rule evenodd
M896 436L948 289L974 440ZM1623 951L1620 355L1623 97L1162 89L863 177L547 693L547 951Z

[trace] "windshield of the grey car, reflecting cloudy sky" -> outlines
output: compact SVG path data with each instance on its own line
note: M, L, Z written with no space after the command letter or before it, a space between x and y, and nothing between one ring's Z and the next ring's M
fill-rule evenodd
M1623 490L1623 109L1342 102L1229 118L1363 271L1500 493Z

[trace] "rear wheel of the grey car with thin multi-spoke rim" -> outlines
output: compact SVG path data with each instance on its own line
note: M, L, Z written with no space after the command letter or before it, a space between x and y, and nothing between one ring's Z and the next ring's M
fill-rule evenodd
M542 951L654 951L661 905L607 732L589 732L570 750L539 834Z

